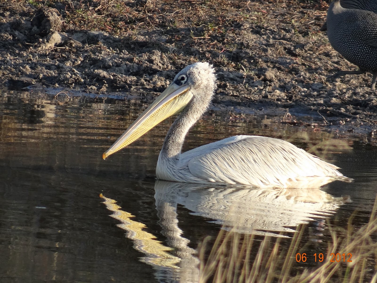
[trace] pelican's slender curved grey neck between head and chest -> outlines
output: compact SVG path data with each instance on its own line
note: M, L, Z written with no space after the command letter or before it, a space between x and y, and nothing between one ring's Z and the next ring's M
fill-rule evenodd
M181 154L183 141L187 132L203 115L207 106L202 105L198 109L189 105L182 111L166 134L159 158L179 160L179 154Z

